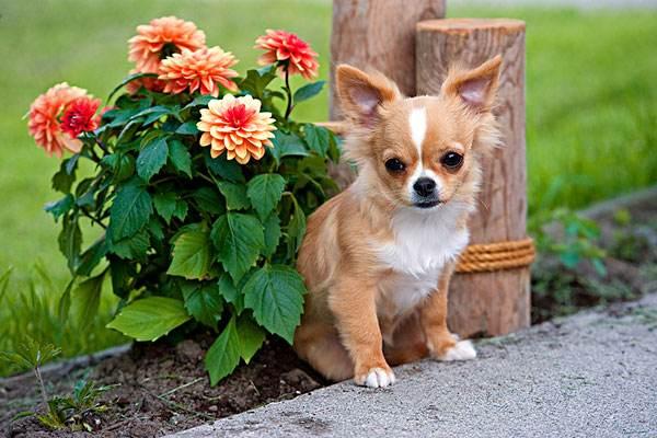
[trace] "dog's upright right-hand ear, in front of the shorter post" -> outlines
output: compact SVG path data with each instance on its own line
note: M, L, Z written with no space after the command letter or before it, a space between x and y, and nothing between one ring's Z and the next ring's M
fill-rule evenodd
M497 55L472 70L451 69L442 83L441 93L458 96L477 113L489 112L499 82L502 56Z

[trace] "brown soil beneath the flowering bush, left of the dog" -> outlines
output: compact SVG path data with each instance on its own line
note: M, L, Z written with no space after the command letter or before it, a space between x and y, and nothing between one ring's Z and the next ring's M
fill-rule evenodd
M64 374L44 374L49 394L70 394L76 381L116 384L101 396L108 410L85 418L91 433L49 431L34 417L11 420L39 404L35 379L22 374L0 382L0 424L8 437L159 437L285 399L325 384L285 342L267 339L251 360L218 385L210 387L203 367L211 336L137 343L127 353ZM43 411L43 407L42 407Z

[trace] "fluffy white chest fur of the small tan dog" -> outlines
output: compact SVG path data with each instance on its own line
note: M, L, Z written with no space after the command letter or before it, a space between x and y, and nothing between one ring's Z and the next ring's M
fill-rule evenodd
M401 211L393 219L394 241L378 250L395 275L380 285L396 313L414 308L436 289L447 263L468 244L468 230L458 228L458 211Z

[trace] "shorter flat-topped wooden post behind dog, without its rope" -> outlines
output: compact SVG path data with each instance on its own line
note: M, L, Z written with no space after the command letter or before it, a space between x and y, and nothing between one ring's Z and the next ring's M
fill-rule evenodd
M495 113L503 147L484 163L480 208L470 221L471 243L526 238L525 23L518 20L433 20L417 24L417 94L438 94L453 62L475 67L504 57ZM499 335L530 323L529 267L458 274L449 298L449 324L462 336Z

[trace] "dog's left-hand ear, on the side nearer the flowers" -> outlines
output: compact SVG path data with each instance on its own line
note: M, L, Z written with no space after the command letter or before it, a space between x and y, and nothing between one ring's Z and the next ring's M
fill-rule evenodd
M380 106L401 97L394 82L383 74L367 74L345 64L337 66L335 82L345 115L366 127L377 123Z

